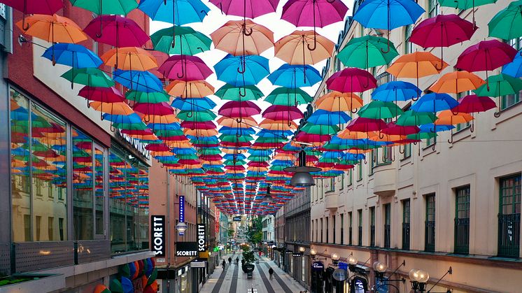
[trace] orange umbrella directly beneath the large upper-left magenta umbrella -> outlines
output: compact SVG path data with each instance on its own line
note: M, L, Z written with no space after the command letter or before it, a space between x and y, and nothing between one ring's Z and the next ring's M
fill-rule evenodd
M148 71L157 67L155 57L138 47L113 48L101 55L101 59L105 65L122 70Z

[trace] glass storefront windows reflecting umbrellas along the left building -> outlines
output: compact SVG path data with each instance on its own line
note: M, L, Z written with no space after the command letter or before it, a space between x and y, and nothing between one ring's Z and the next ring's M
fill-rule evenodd
M13 242L108 239L113 253L148 248L147 164L116 144L98 145L14 88L10 136Z

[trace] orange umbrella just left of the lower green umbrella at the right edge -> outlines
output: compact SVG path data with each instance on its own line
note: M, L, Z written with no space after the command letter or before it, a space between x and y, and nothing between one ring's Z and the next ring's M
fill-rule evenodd
M432 92L445 92L458 94L459 92L467 92L477 90L477 87L486 83L482 78L474 73L467 71L455 71L444 74L437 83L430 87Z

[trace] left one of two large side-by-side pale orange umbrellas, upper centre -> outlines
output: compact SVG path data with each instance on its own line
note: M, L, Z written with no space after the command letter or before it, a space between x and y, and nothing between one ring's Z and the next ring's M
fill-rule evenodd
M234 56L261 55L274 46L274 33L252 20L230 20L210 36L216 49Z

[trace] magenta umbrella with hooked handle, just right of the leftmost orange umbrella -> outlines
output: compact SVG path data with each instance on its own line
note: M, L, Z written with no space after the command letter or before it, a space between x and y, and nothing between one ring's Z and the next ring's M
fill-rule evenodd
M100 24L100 27L103 26L101 31L97 24ZM118 69L118 48L141 47L150 40L150 36L134 20L120 15L96 17L87 24L83 31L94 41L113 45L116 48L116 69Z

